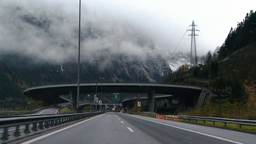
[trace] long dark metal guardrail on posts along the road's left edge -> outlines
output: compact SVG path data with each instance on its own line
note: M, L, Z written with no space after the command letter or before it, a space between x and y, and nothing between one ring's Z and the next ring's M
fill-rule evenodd
M8 128L16 126L14 136L20 136L21 125L25 125L24 133L30 133L29 124L32 124L32 131L44 130L44 128L49 128L52 126L57 126L60 124L66 124L75 120L86 118L88 116L93 116L96 114L102 114L103 112L85 112L76 114L59 114L59 115L43 115L43 116L28 116L28 117L10 117L10 118L0 118L0 128L3 128L3 134L0 138L1 140L7 140Z

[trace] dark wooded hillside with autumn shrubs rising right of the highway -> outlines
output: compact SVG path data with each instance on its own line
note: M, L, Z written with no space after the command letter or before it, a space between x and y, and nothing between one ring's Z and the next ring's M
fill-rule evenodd
M256 119L256 14L247 14L221 47L198 61L198 67L183 65L165 79L208 88L215 95L187 114Z

